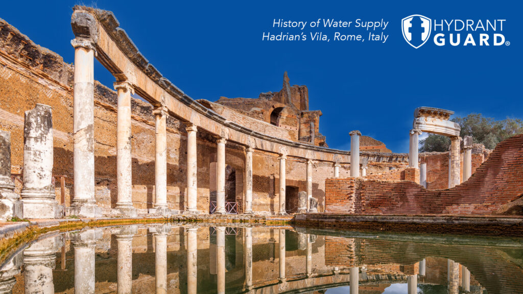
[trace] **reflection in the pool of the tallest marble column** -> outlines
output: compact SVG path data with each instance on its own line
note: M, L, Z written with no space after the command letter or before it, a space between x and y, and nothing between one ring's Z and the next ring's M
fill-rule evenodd
M101 229L72 232L74 248L74 292L89 294L95 292L95 248L101 239Z

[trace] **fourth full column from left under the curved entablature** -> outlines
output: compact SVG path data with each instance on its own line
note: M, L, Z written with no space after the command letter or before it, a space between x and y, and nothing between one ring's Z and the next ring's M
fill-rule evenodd
M196 160L196 132L195 125L185 128L187 131L187 213L198 213L197 193L198 193L198 169Z

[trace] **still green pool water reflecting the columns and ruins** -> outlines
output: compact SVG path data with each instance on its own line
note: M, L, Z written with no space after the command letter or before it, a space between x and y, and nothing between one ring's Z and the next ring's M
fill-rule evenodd
M523 293L523 240L144 224L50 233L0 293Z

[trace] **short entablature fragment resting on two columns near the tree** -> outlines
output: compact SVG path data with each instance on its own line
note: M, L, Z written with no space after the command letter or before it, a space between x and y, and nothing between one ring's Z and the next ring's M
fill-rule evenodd
M459 136L461 127L450 121L454 112L434 107L418 107L414 110L413 129L427 133L444 135L447 137Z

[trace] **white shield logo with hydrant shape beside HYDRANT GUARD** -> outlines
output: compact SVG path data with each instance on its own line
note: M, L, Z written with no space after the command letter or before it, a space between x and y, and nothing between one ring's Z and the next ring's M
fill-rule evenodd
M405 17L401 20L403 38L416 49L422 47L430 37L431 23L430 18L419 14Z

